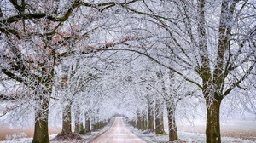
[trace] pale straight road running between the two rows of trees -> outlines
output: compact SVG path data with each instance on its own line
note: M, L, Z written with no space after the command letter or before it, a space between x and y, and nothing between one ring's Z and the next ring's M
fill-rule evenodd
M125 127L122 117L116 117L113 125L90 143L146 143Z

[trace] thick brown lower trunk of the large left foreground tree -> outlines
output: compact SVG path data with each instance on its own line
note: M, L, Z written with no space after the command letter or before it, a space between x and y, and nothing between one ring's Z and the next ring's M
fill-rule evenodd
M36 109L35 129L32 143L49 143L48 116L49 99L41 98L40 109Z

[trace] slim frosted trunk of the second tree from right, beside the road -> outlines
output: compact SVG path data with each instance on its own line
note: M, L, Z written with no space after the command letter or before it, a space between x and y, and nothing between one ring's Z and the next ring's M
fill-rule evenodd
M168 103L167 105L167 116L168 116L168 129L169 129L169 141L177 140L177 126L175 122L175 104Z

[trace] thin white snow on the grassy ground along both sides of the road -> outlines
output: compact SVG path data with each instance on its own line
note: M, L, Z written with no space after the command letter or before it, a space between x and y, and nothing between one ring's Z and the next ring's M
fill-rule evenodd
M82 140L82 142L89 142L92 139L95 139L97 136L99 136L100 134L106 132L110 125L113 123L110 122L108 123L108 125L96 132L92 132L90 134L87 135L81 135L82 138L84 138L84 140ZM138 137L142 138L144 141L148 142L148 143L166 143L168 141L168 135L154 135L153 133L147 133L146 131L142 132L138 129L135 129L133 127L131 127L131 125L125 123L126 127L128 129L131 130L132 133L136 134ZM57 134L53 134L50 135L50 139L53 139ZM201 133L191 133L191 132L186 132L186 131L178 131L178 137L180 140L182 140L182 142L184 143L205 143L206 142L206 138L205 138L205 134L201 134ZM28 142L32 142L32 138L19 138L16 137L16 139L14 138L13 140L6 140L6 141L0 141L0 143L28 143ZM75 143L75 142L81 142L81 140L62 140L62 141L51 141L52 143ZM234 138L234 137L225 137L222 136L222 142L223 143L255 143L255 140L244 140L241 138Z

